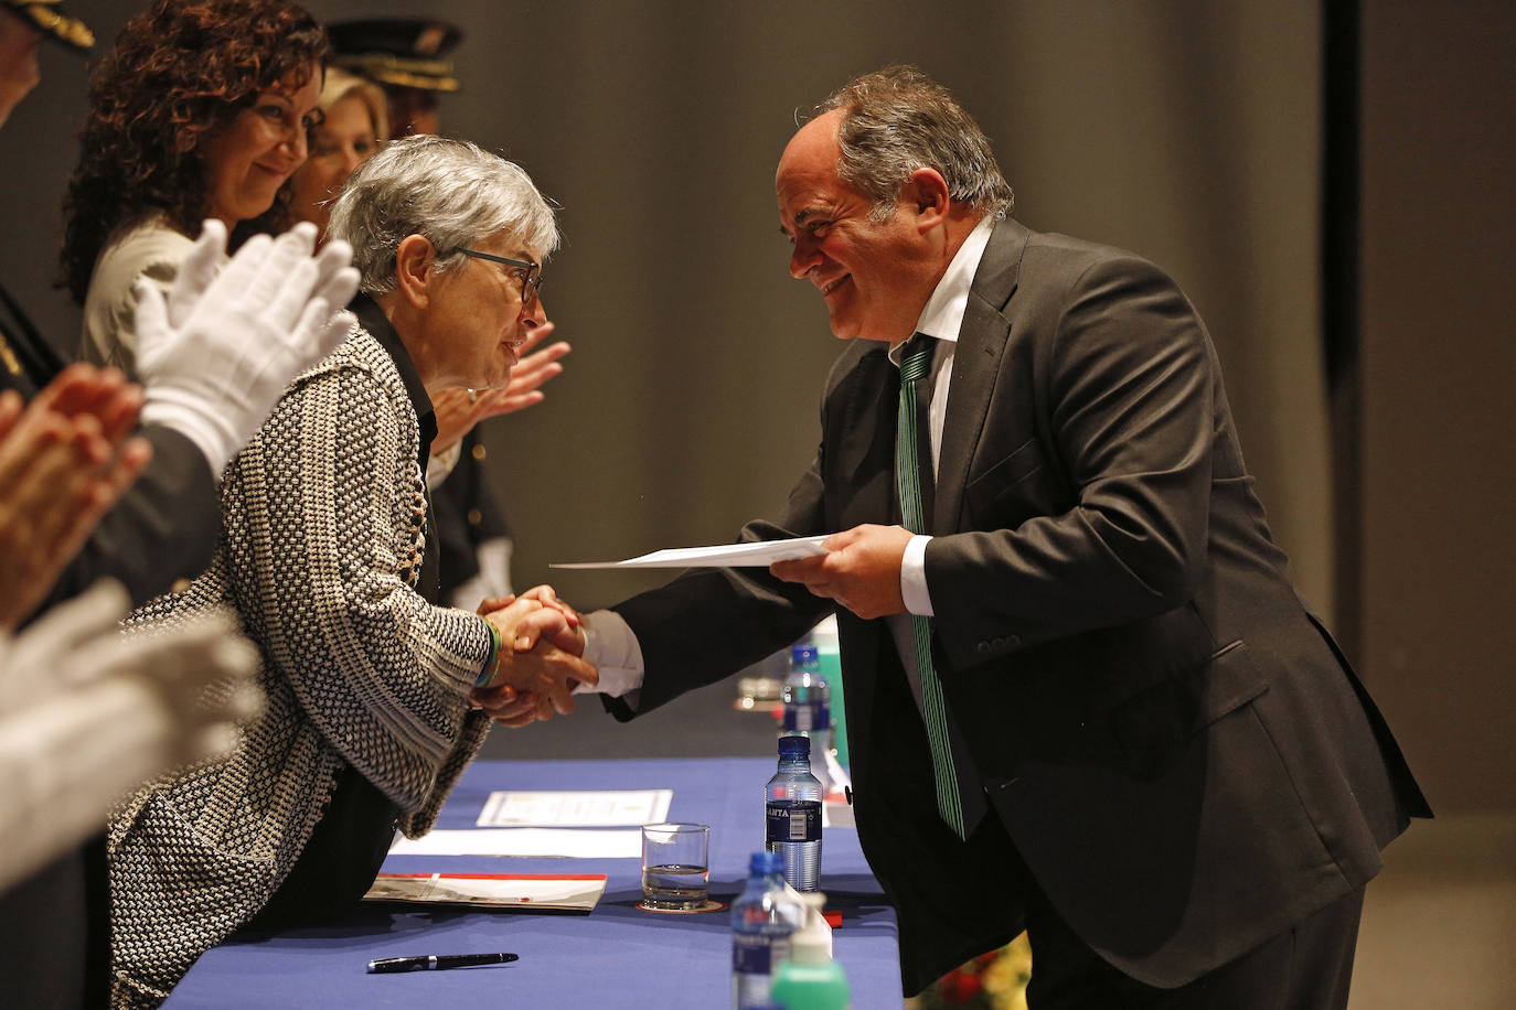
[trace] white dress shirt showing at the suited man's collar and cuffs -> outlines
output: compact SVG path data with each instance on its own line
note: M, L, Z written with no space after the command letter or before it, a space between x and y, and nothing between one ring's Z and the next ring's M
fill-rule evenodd
M928 404L928 422L931 439L932 471L935 474L937 459L941 453L943 421L948 416L948 391L952 383L952 359L958 347L958 330L963 329L963 313L969 307L969 288L973 276L979 270L984 257L984 247L990 244L990 232L994 230L994 218L987 215L969 233L963 245L948 263L948 271L932 289L932 297L926 300L926 307L916 321L916 332L937 338L937 353L932 356L931 376L932 392ZM890 347L890 360L901 365L901 351L905 341ZM905 557L901 562L901 597L910 613L932 616L931 594L926 589L926 544L931 536L913 536L905 547ZM910 627L904 615L890 619L890 630L894 633L896 647L901 648L901 660L911 681L913 694L919 694L916 686L916 651L914 639L902 628ZM637 634L631 625L614 610L596 610L585 615L585 645L584 659L600 671L600 683L594 687L579 684L576 694L599 692L614 698L635 692L643 684L643 650L637 642ZM635 707L635 698L629 700ZM917 704L920 698L917 698Z

